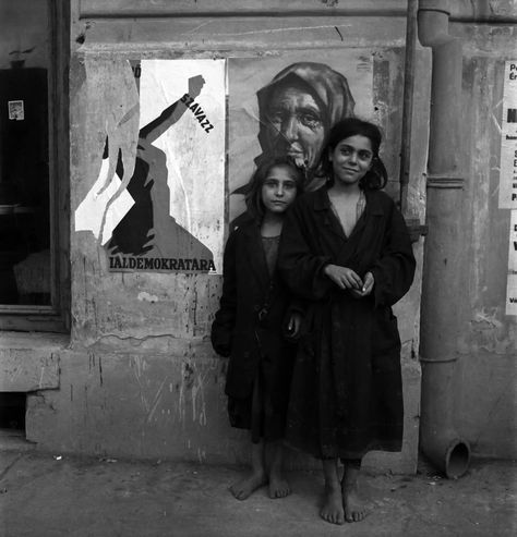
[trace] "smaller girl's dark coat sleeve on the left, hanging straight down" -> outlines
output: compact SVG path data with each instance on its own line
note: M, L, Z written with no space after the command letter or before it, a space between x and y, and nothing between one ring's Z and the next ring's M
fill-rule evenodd
M223 258L223 295L219 309L212 324L211 340L214 351L228 357L231 353L231 339L237 317L237 269L236 232L230 233Z

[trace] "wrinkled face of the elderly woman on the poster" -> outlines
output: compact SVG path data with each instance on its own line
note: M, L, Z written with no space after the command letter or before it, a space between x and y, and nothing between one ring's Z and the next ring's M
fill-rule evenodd
M268 151L287 155L300 167L317 166L325 139L323 111L308 89L292 84L276 88L267 120Z

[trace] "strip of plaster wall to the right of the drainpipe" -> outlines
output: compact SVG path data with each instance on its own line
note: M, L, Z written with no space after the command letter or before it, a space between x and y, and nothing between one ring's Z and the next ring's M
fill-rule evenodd
M515 15L515 11L513 12ZM462 286L456 349L457 427L476 454L515 457L517 318L505 315L510 210L498 208L503 81L515 26L453 24L460 37L465 188L458 247Z

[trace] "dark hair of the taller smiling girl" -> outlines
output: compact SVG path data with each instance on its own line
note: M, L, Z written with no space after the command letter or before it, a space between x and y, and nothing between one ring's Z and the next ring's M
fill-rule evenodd
M328 178L327 185L334 184L333 167L329 160L330 152L345 138L361 135L370 139L372 144L372 167L359 182L359 186L366 191L380 191L386 186L388 176L386 167L378 156L378 149L383 135L377 125L358 118L347 118L338 121L328 133L325 149L323 151L322 168Z

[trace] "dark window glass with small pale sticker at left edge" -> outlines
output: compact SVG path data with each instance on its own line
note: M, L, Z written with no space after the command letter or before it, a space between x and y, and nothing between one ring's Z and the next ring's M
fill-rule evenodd
M0 304L50 305L48 5L0 7Z

